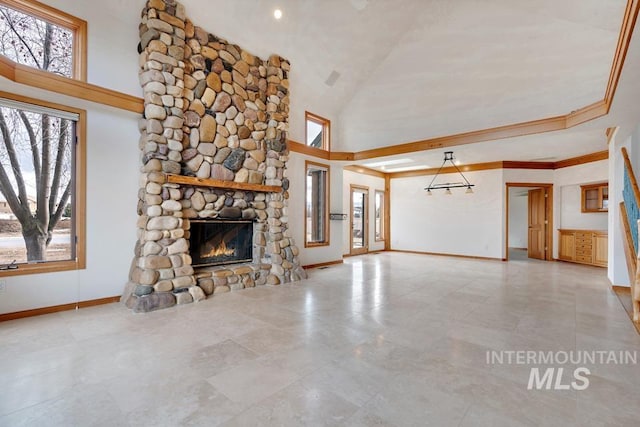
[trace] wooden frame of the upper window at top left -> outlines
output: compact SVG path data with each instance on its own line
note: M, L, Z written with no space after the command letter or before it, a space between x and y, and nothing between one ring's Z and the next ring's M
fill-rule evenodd
M87 21L35 0L0 0L0 5L71 31L73 33L73 75L71 77L61 77L83 82L87 81ZM6 56L2 54L0 54L0 56L6 58ZM19 65L29 67L25 64ZM47 70L40 70L39 68L29 68L50 73Z

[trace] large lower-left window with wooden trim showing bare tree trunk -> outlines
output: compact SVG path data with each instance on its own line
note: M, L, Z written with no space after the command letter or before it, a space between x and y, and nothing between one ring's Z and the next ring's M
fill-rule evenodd
M84 268L84 120L0 92L0 276Z

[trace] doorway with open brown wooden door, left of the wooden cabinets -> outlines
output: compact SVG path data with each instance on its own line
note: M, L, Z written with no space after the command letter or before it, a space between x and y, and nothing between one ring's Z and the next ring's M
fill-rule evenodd
M553 260L553 184L507 183L506 218L506 260Z

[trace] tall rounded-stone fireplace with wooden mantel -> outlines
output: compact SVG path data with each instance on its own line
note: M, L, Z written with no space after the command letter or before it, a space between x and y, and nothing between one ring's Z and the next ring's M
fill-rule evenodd
M147 312L304 278L288 227L289 62L194 26L174 0L148 1L138 51L138 241L123 301Z

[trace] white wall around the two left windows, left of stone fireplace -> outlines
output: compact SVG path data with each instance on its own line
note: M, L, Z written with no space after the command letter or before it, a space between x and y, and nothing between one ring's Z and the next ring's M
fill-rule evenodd
M89 21L90 83L140 93L136 27L123 27L92 2L46 3ZM87 268L2 278L0 313L120 295L136 240L139 115L4 79L0 90L87 111Z

